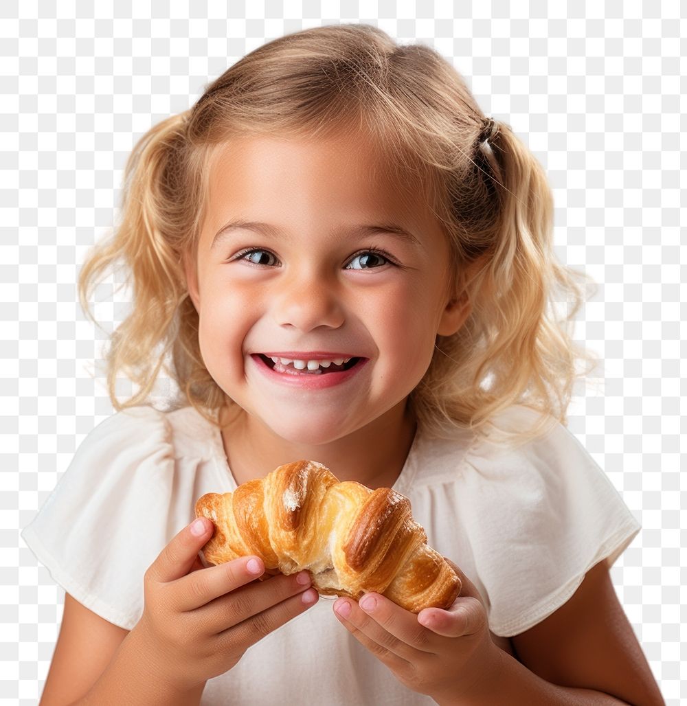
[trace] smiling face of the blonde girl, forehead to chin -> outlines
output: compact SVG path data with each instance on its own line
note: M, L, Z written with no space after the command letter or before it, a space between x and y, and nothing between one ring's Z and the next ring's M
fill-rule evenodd
M468 313L449 291L448 244L418 190L403 193L359 136L244 137L218 150L196 266L186 267L208 371L292 443L388 428L437 333ZM217 235L236 220L269 227Z

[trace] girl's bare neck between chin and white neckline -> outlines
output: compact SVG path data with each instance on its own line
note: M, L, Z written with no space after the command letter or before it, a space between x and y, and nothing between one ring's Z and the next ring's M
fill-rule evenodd
M323 463L340 481L357 481L373 490L390 488L398 479L416 429L405 400L362 429L319 445L286 441L241 409L222 409L220 424L237 484L304 459Z

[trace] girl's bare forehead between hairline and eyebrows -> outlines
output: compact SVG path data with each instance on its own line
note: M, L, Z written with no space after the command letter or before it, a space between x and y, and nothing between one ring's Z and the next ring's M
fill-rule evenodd
M415 227L431 218L419 180L401 177L393 159L359 133L232 137L215 147L209 164L213 225L235 215L261 220L393 217Z

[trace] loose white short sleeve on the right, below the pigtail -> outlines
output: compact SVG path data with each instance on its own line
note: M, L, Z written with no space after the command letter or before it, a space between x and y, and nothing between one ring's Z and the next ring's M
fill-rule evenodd
M512 429L512 427L511 427ZM609 568L641 529L609 477L565 426L514 450L477 445L466 457L464 512L489 627L512 637L572 597L600 561ZM477 498L477 502L472 502Z

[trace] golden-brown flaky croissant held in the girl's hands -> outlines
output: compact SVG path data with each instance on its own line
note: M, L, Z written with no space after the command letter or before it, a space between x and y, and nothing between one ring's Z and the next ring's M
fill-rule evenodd
M268 572L309 570L323 595L375 591L413 613L446 609L460 593L460 578L427 546L405 496L339 482L314 461L280 466L233 493L206 493L196 502L201 516L215 524L203 546L212 564L254 554Z

